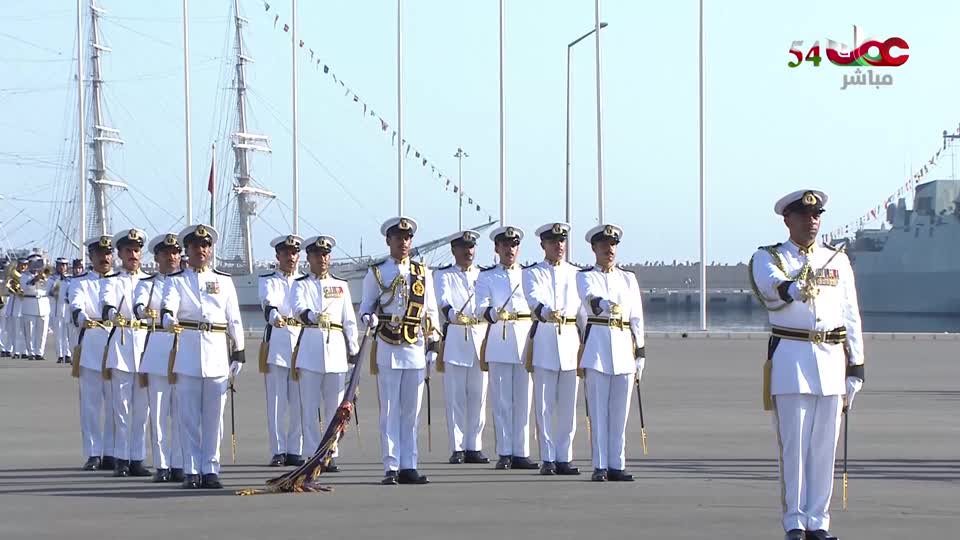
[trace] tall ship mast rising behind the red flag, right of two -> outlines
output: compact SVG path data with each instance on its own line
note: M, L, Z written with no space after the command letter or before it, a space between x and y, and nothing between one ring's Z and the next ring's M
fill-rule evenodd
M253 259L253 218L257 215L257 203L260 199L273 199L276 195L253 185L250 171L251 153L270 153L269 139L265 135L250 132L247 126L247 83L246 65L253 59L245 54L243 46L243 25L247 19L240 15L240 2L234 0L234 23L236 28L236 131L231 134L234 155L234 184L230 192L231 200L224 218L223 247L218 251L218 267L233 275L249 275L254 271Z

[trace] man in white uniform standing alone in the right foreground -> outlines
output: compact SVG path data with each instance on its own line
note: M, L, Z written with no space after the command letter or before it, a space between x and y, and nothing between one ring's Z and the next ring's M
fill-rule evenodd
M754 292L770 317L765 406L773 410L789 540L834 538L828 531L840 417L864 379L850 260L817 243L826 202L813 189L777 201L774 211L789 238L761 247L750 260Z

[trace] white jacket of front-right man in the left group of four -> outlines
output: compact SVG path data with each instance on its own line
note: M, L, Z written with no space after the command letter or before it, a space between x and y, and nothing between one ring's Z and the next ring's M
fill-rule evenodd
M175 373L191 377L226 377L231 351L244 350L243 324L237 291L229 274L193 268L170 274L164 287L162 311L180 323L222 325L221 332L184 330L180 334ZM230 347L229 337L233 340Z

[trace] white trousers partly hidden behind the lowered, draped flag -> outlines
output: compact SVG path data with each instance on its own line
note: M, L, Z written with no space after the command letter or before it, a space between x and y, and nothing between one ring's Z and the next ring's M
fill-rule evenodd
M320 447L320 439L326 433L330 419L343 401L344 381L346 373L317 373L306 369L300 370L300 403L303 418L303 451L307 456L313 456ZM322 418L321 418L322 417ZM339 445L338 445L339 446ZM333 457L340 455L339 449L334 449Z

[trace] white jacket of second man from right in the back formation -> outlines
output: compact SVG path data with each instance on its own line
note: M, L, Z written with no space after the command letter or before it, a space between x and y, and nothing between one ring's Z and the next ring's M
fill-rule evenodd
M553 371L577 368L577 350L580 336L575 322L580 310L577 294L576 266L560 261L551 264L541 261L523 272L523 291L527 305L540 320L533 337L533 365ZM548 311L563 315L566 324L544 317Z

